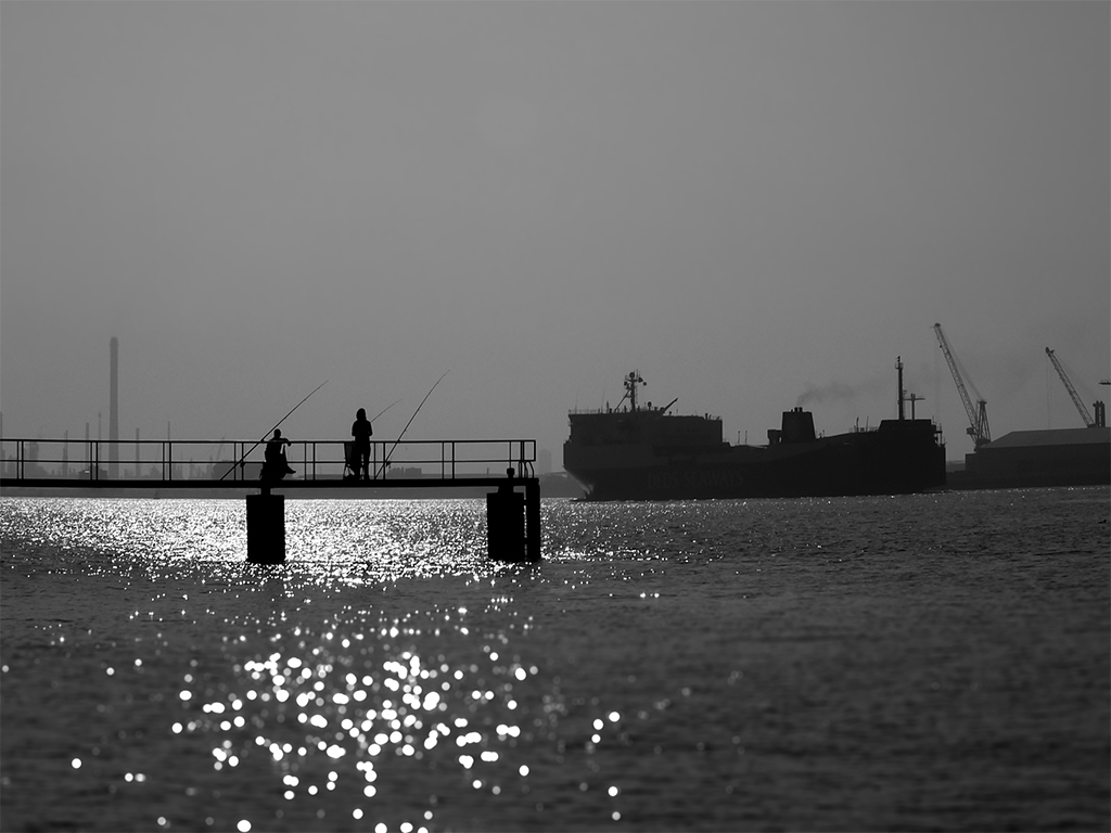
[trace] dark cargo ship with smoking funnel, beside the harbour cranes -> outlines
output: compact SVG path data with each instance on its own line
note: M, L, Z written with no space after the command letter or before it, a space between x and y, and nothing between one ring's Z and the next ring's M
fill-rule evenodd
M767 445L732 445L720 416L671 414L641 405L637 372L617 408L572 411L563 468L585 499L693 500L921 492L945 485L945 446L931 420L907 419L902 361L899 418L871 430L818 435L810 411L783 412Z

